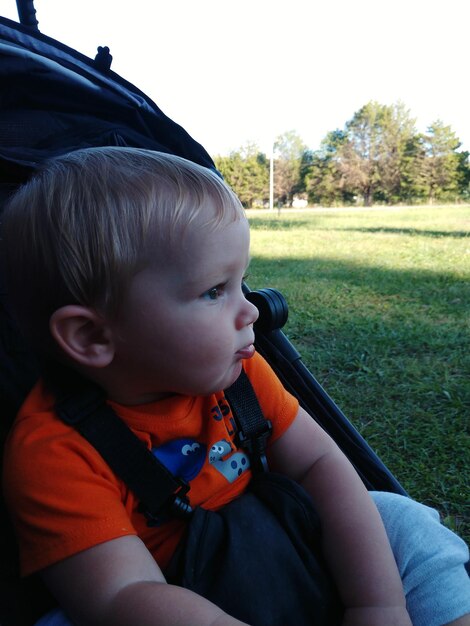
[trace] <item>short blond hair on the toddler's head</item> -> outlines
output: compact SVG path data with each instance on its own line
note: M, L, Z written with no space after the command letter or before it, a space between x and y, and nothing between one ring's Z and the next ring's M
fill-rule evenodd
M208 228L244 216L214 171L171 154L89 148L47 162L2 219L7 289L25 335L48 342L49 318L65 304L116 315L149 262L149 239L169 253L208 206Z

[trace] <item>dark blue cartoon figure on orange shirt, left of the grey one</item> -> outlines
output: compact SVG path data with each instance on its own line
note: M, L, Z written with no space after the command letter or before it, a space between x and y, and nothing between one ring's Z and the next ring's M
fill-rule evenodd
M206 446L188 438L173 439L152 452L172 474L187 482L196 478L206 458Z

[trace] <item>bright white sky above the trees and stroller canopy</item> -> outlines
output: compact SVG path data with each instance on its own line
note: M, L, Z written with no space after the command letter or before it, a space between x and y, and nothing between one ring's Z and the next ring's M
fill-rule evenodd
M208 152L307 146L369 100L440 118L470 150L470 0L35 0L41 32L94 57ZM14 0L0 14L17 19Z

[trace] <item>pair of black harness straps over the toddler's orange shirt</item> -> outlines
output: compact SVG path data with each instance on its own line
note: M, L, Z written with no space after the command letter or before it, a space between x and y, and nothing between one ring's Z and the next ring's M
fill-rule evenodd
M73 374L49 379L56 393L58 417L73 426L101 454L141 502L149 524L160 524L168 515L192 513L189 485L174 476L140 441L106 403L104 392ZM239 444L246 448L254 469L267 469L266 442L271 422L261 412L256 394L245 372L225 392L239 425Z

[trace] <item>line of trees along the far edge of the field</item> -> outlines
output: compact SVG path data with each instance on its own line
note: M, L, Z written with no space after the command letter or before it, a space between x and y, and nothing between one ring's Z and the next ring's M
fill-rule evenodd
M275 206L418 204L470 201L469 153L441 120L425 133L402 103L369 102L343 130L333 130L318 150L296 131L280 135L273 150ZM268 206L271 157L256 144L216 167L247 208Z

